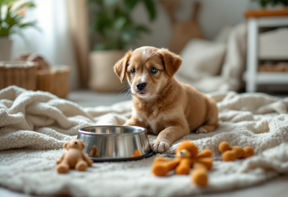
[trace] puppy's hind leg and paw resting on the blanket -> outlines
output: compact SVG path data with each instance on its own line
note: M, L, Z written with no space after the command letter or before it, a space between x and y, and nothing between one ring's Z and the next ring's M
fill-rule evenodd
M212 98L207 98L207 115L203 126L200 126L196 133L209 133L214 131L219 126L218 108L216 102Z

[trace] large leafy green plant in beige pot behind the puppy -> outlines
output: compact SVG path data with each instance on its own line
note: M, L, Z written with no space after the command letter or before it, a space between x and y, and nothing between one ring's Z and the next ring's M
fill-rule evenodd
M96 91L118 91L121 84L113 72L114 64L124 55L129 44L139 39L142 33L149 33L145 25L135 24L131 12L135 5L143 2L150 21L156 16L153 0L90 0L95 9L91 30L102 37L90 52L89 87Z

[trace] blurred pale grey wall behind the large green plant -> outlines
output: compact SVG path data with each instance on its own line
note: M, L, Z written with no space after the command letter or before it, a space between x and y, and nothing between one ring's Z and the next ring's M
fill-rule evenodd
M251 2L251 0L200 0L199 2L201 3L201 9L198 20L207 39L213 39L225 26L234 26L244 22L243 12L245 10L259 8L259 5L256 2ZM192 17L193 3L194 0L181 1L179 9L176 11L177 21L188 20ZM151 29L151 33L143 35L142 39L137 40L137 44L129 46L128 49L141 46L168 47L172 24L166 10L160 3L156 4L156 9L156 20L152 23L149 21L143 3L139 3L132 11L135 22L146 24ZM90 40L92 49L94 43L101 40L101 38L92 34Z

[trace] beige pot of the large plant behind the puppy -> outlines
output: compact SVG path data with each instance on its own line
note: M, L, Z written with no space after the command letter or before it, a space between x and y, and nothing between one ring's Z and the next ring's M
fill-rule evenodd
M124 56L124 51L92 51L89 54L90 77L89 87L100 92L120 92L127 85L113 71L115 63Z

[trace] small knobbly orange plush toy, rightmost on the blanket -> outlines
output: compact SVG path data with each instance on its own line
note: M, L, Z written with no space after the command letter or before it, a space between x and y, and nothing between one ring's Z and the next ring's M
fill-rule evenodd
M251 146L230 146L228 142L223 141L219 144L218 149L222 154L223 161L234 161L235 159L247 158L254 155Z

